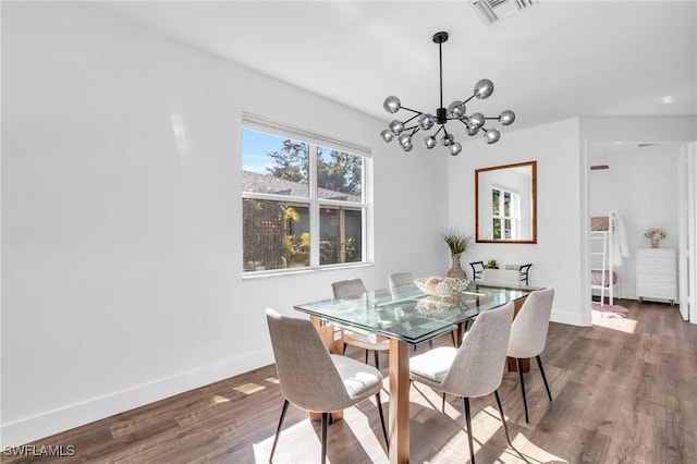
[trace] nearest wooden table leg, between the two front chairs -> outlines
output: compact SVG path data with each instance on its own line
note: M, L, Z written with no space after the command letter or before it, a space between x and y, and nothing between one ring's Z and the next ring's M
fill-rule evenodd
M409 351L408 343L390 339L390 463L409 462Z

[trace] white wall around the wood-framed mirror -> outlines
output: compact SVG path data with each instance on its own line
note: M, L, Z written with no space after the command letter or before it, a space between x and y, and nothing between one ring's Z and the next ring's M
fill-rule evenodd
M513 126L512 126L513 127ZM474 172L479 168L537 161L537 244L478 243L463 258L467 262L496 259L500 265L533 262L530 285L554 286L552 319L587 325L579 285L582 260L579 208L578 120L522 131L502 131L487 145L479 137L450 159L449 216L453 227L474 233Z

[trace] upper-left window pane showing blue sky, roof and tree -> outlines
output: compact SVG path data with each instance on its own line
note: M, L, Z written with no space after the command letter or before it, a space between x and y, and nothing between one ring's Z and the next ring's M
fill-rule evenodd
M307 144L244 129L242 131L242 190L309 197Z

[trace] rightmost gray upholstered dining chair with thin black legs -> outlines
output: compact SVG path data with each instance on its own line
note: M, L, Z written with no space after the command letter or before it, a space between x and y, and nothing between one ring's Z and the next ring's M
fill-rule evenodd
M523 406L525 407L525 422L529 424L527 413L527 399L525 398L525 379L523 376L523 358L535 357L542 375L542 381L547 389L549 401L552 401L552 392L545 376L540 353L545 351L547 343L547 330L552 313L554 289L536 290L527 295L521 310L513 320L511 327L511 341L509 342L508 356L514 357L521 378L521 392L523 393Z

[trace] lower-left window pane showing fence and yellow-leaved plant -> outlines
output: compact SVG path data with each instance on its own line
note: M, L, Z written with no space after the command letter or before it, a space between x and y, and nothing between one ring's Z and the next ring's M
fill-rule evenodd
M309 266L307 205L243 199L244 270Z

